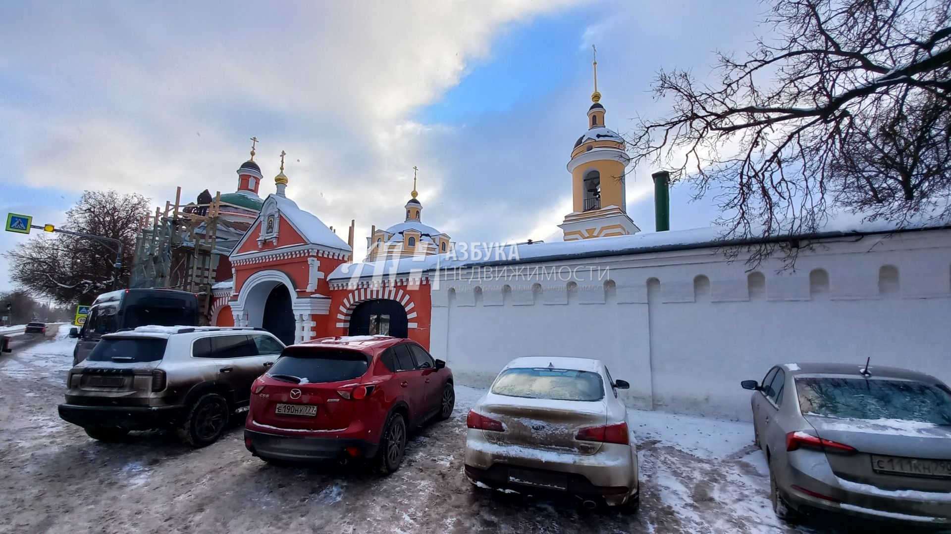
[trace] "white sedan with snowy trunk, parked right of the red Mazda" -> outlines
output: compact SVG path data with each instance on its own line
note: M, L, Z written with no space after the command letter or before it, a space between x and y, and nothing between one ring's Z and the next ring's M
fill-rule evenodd
M640 503L628 410L596 359L515 358L469 412L465 473L476 486L559 491L598 503Z

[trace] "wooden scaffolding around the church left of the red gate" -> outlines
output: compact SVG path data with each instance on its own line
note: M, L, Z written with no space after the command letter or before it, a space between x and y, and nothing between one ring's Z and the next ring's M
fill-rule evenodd
M133 288L165 288L187 291L199 297L204 320L211 311L212 285L220 255L230 250L219 248L219 231L243 234L233 221L221 217L221 192L206 203L181 205L182 187L175 203L165 201L165 210L155 208L147 214L136 235L132 261ZM228 233L233 233L228 232Z

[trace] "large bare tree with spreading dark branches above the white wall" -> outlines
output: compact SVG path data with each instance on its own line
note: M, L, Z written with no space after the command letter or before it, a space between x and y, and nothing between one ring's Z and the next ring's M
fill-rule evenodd
M951 218L951 4L774 0L768 37L718 53L716 83L661 71L667 118L641 120L635 164L711 191L729 238L814 233L830 212ZM754 260L772 249L761 247Z

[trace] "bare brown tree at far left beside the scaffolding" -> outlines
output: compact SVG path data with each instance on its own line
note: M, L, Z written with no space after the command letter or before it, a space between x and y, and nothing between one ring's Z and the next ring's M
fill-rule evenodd
M90 304L112 287L126 287L131 272L135 232L148 211L148 199L137 193L85 191L67 212L64 229L123 242L123 267L113 267L114 245L102 241L56 234L37 236L6 253L16 265L11 281L35 295L49 296L63 304Z

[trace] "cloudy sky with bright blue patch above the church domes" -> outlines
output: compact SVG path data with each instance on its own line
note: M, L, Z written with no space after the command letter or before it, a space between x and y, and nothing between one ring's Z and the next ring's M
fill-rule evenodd
M553 240L565 168L587 129L592 50L607 125L662 117L656 72L710 72L752 46L755 0L5 2L0 4L0 214L62 223L85 189L165 205L237 188L255 161L274 192L346 238L403 219L418 172L423 222L455 241ZM628 212L652 231L650 173ZM707 226L710 199L670 195L671 229ZM0 252L26 237L0 235ZM0 291L15 269L0 257Z

